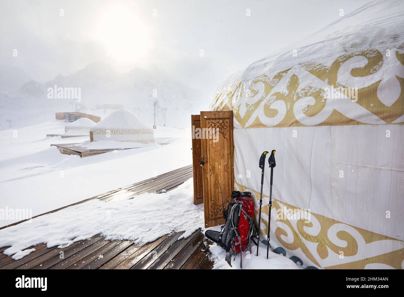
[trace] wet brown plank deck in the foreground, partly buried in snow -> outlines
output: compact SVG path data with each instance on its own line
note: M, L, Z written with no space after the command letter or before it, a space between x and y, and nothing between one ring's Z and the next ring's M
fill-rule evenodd
M133 183L95 197L64 206L100 199L108 203L133 195L170 191L192 177L192 166L185 166L168 173ZM136 197L134 197L136 199ZM48 213L54 213L55 209ZM46 213L42 214L45 215ZM39 215L40 216L40 215ZM36 216L38 217L38 216ZM11 225L17 225L13 223ZM9 227L2 227L0 229ZM46 248L46 244L29 247L36 251L15 261L12 255L0 253L0 269L211 269L213 263L208 254L200 251L203 235L197 230L188 238L178 240L182 232L164 235L153 242L135 245L131 240L104 240L96 235L65 248ZM0 248L4 251L7 247ZM63 252L64 257L61 256ZM102 257L101 257L102 256Z

